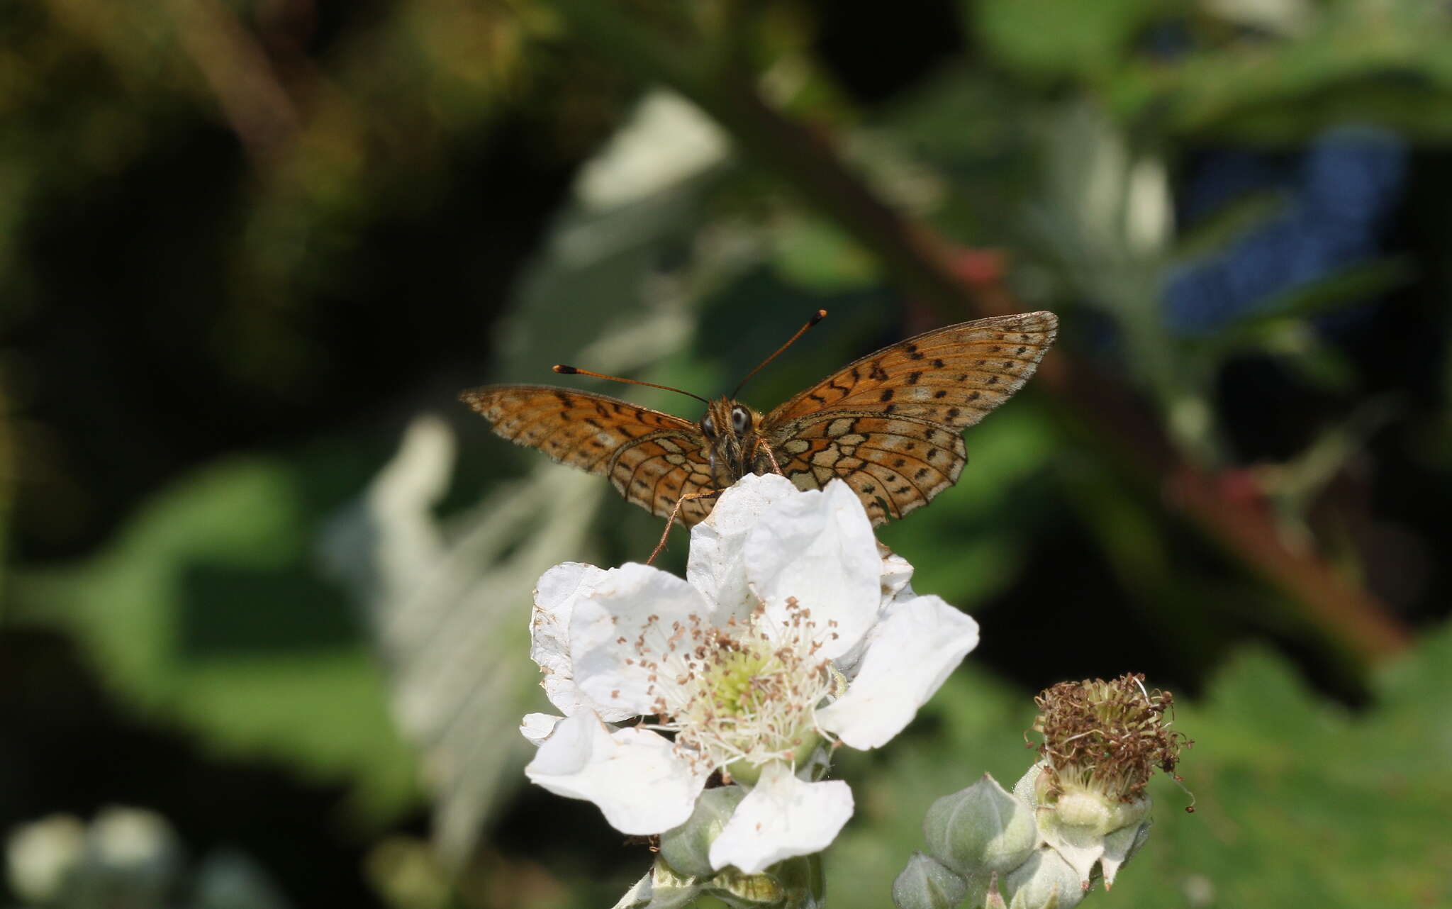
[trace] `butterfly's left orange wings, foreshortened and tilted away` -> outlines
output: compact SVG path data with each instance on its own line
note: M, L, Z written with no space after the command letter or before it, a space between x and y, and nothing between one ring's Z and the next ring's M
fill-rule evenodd
M485 385L459 399L485 417L497 436L608 476L626 500L652 514L665 517L682 495L713 489L706 439L688 420L549 385ZM713 504L687 501L680 520L694 524Z

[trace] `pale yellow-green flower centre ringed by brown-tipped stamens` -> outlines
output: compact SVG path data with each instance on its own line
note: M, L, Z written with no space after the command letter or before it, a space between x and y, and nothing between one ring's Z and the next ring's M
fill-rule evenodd
M816 626L796 598L780 623L758 606L711 627L698 616L664 629L648 621L635 642L652 671L656 727L711 767L804 757L815 745L816 707L832 693L831 664L816 656ZM653 645L653 646L652 646Z

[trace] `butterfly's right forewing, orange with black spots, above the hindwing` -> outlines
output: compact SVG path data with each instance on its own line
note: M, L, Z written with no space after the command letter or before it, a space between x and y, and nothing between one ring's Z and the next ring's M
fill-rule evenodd
M1057 328L1053 312L1024 312L928 331L849 363L771 411L765 425L841 409L963 430L1024 386Z

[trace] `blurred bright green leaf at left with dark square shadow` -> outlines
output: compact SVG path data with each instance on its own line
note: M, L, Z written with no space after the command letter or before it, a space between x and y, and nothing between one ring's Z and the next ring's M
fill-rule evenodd
M348 780L401 809L414 764L372 649L311 540L359 457L232 457L152 497L93 559L17 579L17 611L68 629L121 697L224 754ZM366 468L364 468L366 469ZM321 489L321 492L319 492Z

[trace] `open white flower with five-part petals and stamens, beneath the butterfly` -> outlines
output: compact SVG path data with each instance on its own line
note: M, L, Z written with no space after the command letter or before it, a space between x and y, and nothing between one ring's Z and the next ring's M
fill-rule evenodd
M524 719L540 746L526 774L649 835L685 822L722 771L751 788L711 844L714 868L754 874L823 849L852 793L812 780L813 751L892 739L979 639L910 574L878 553L847 484L802 492L777 475L722 494L691 530L685 581L635 563L552 568L531 656L565 716ZM610 725L630 717L649 719Z

